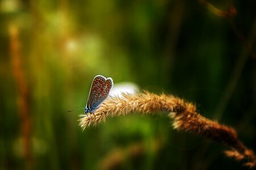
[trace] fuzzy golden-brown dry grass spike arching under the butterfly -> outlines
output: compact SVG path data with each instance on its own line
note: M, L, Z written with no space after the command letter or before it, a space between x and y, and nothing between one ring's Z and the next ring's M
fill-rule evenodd
M155 95L145 91L141 94L122 94L122 96L109 97L94 114L82 114L79 125L84 130L91 125L105 121L106 117L125 116L133 113L169 113L169 117L173 119L174 129L224 143L231 148L231 150L225 151L227 156L236 160L245 160L245 165L250 168L256 165L254 152L238 140L233 128L220 125L216 121L201 116L196 112L195 105L171 95Z

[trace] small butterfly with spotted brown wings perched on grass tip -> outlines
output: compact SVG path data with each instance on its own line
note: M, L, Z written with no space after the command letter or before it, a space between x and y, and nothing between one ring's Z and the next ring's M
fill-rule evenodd
M92 86L90 86L89 97L84 113L87 114L96 111L98 105L108 97L109 91L113 85L114 83L112 78L105 78L105 76L96 75L93 79Z

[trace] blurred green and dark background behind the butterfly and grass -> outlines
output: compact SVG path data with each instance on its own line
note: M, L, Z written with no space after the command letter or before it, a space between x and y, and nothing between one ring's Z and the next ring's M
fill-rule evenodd
M0 1L0 169L247 169L163 116L78 116L95 75L173 94L256 151L255 1ZM218 11L217 11L218 12ZM250 48L252 51L250 51Z

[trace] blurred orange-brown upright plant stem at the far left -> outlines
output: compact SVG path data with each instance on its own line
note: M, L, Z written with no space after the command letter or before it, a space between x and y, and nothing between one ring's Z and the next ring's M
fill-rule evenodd
M31 155L31 121L28 105L28 86L24 75L22 55L20 53L19 28L15 24L9 25L10 56L13 76L17 88L18 113L21 121L21 135L23 141L23 156L26 160L27 169L32 169L33 160Z

